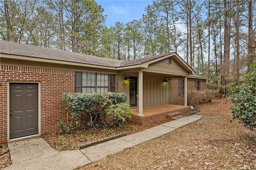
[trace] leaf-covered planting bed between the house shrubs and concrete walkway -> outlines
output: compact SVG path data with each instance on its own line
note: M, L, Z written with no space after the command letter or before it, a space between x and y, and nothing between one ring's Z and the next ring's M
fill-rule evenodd
M124 127L110 127L109 125L98 125L97 127L87 127L81 130L73 130L70 134L55 132L41 137L55 150L76 150L79 149L81 144L100 140L102 138L114 136L122 132L132 134L141 130L160 125L171 121L170 119L164 119L149 123L147 125L136 125L130 122L124 122Z

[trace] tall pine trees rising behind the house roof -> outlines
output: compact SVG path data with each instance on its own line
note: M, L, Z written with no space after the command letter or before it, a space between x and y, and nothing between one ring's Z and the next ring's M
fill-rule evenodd
M256 60L255 4L154 0L140 20L108 28L94 0L0 0L0 39L118 60L176 51L224 93Z

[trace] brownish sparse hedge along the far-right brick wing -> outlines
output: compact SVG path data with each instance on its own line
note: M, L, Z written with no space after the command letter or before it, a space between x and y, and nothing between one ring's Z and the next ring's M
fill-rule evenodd
M188 90L188 106L209 103L219 95L219 90Z

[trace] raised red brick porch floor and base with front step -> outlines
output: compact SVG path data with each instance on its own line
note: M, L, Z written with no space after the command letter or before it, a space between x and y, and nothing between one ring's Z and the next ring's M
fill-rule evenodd
M176 119L198 112L197 110L191 110L191 107L189 106L170 104L144 107L143 115L139 114L139 108L132 108L131 111L134 115L132 115L132 119L129 121L140 125L165 119L166 117Z

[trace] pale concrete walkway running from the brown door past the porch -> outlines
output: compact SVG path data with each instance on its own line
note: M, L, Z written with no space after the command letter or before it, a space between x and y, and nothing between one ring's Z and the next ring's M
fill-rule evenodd
M116 154L125 148L162 136L177 128L198 121L201 119L200 117L197 115L182 117L81 150L56 151L42 138L9 143L12 164L4 168L4 170L72 170L77 166L95 162L110 154Z

